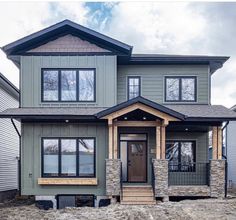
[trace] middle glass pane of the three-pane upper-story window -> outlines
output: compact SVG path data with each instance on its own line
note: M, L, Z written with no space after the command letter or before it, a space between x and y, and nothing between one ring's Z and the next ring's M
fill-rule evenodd
M61 100L76 101L76 71L61 71Z

